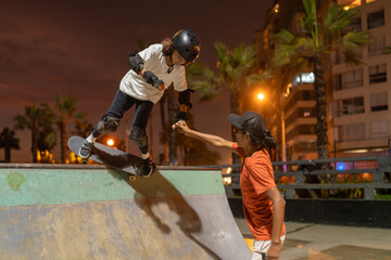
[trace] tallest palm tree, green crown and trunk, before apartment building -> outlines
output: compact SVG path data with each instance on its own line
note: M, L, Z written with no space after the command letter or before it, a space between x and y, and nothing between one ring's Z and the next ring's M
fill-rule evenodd
M325 58L331 52L342 53L346 63L361 64L356 51L368 44L367 32L353 31L349 28L357 9L344 10L332 4L326 15L317 15L316 1L303 0L305 15L301 18L303 32L294 36L286 29L276 35L277 47L273 65L289 74L298 75L303 69L313 68L315 75L316 134L318 158L328 157ZM278 42L280 40L280 42Z

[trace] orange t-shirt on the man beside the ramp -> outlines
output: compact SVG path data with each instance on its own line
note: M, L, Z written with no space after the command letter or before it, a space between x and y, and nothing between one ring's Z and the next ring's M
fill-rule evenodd
M232 148L244 159L240 173L240 190L243 199L245 221L256 240L272 239L273 202L266 191L276 186L270 156L262 150L245 157L244 151L234 143ZM285 235L282 222L280 236Z

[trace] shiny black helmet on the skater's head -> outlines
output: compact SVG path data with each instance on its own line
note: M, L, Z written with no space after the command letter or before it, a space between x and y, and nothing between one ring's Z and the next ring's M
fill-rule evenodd
M194 62L200 55L200 39L194 31L181 29L173 37L174 49L187 62Z

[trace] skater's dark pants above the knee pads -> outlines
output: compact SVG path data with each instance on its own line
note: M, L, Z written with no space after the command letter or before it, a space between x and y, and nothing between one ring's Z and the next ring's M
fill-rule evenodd
M113 103L110 106L106 115L110 117L117 118L121 120L123 118L124 113L127 112L130 107L133 107L136 104L136 114L133 119L133 125L146 129L149 116L153 108L153 103L150 101L140 101L135 98L131 98L124 92L122 92L119 89L116 92ZM97 131L97 127L92 131L92 136L98 138L100 133Z

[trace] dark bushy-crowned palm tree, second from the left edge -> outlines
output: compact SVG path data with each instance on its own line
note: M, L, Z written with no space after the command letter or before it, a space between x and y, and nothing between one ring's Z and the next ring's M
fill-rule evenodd
M14 117L14 120L16 121L16 130L24 130L27 128L31 131L33 162L37 162L39 132L49 128L54 120L53 113L50 107L45 104L41 106L42 108L39 108L36 105L26 106L25 115L18 114Z

